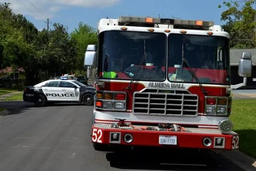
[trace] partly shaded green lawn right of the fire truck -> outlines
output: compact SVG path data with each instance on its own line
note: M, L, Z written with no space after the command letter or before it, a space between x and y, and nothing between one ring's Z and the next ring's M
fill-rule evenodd
M256 158L256 100L233 100L230 120L240 135L239 150Z

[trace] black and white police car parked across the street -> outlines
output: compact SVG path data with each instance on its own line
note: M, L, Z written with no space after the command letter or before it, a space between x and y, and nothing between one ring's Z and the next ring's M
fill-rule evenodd
M67 102L92 105L95 91L73 79L52 79L26 87L23 101L34 102L36 106Z

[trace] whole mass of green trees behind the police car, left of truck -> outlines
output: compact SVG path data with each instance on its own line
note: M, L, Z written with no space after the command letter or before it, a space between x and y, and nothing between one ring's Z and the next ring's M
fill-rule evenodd
M0 68L23 68L26 85L45 75L59 76L83 70L83 56L88 44L97 44L97 33L79 24L71 37L59 23L52 30L38 31L22 14L15 14L10 3L0 3Z

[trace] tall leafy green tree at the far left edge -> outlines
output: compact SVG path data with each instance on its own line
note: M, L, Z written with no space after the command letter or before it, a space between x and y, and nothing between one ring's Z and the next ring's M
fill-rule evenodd
M34 83L39 62L34 43L36 27L26 17L12 12L9 3L0 4L0 46L2 48L2 68L23 68L26 81Z

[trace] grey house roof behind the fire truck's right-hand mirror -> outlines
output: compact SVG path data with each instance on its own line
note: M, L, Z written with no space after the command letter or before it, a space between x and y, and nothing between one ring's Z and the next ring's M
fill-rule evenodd
M230 49L230 65L238 66L243 52L251 53L253 66L256 66L256 49Z

